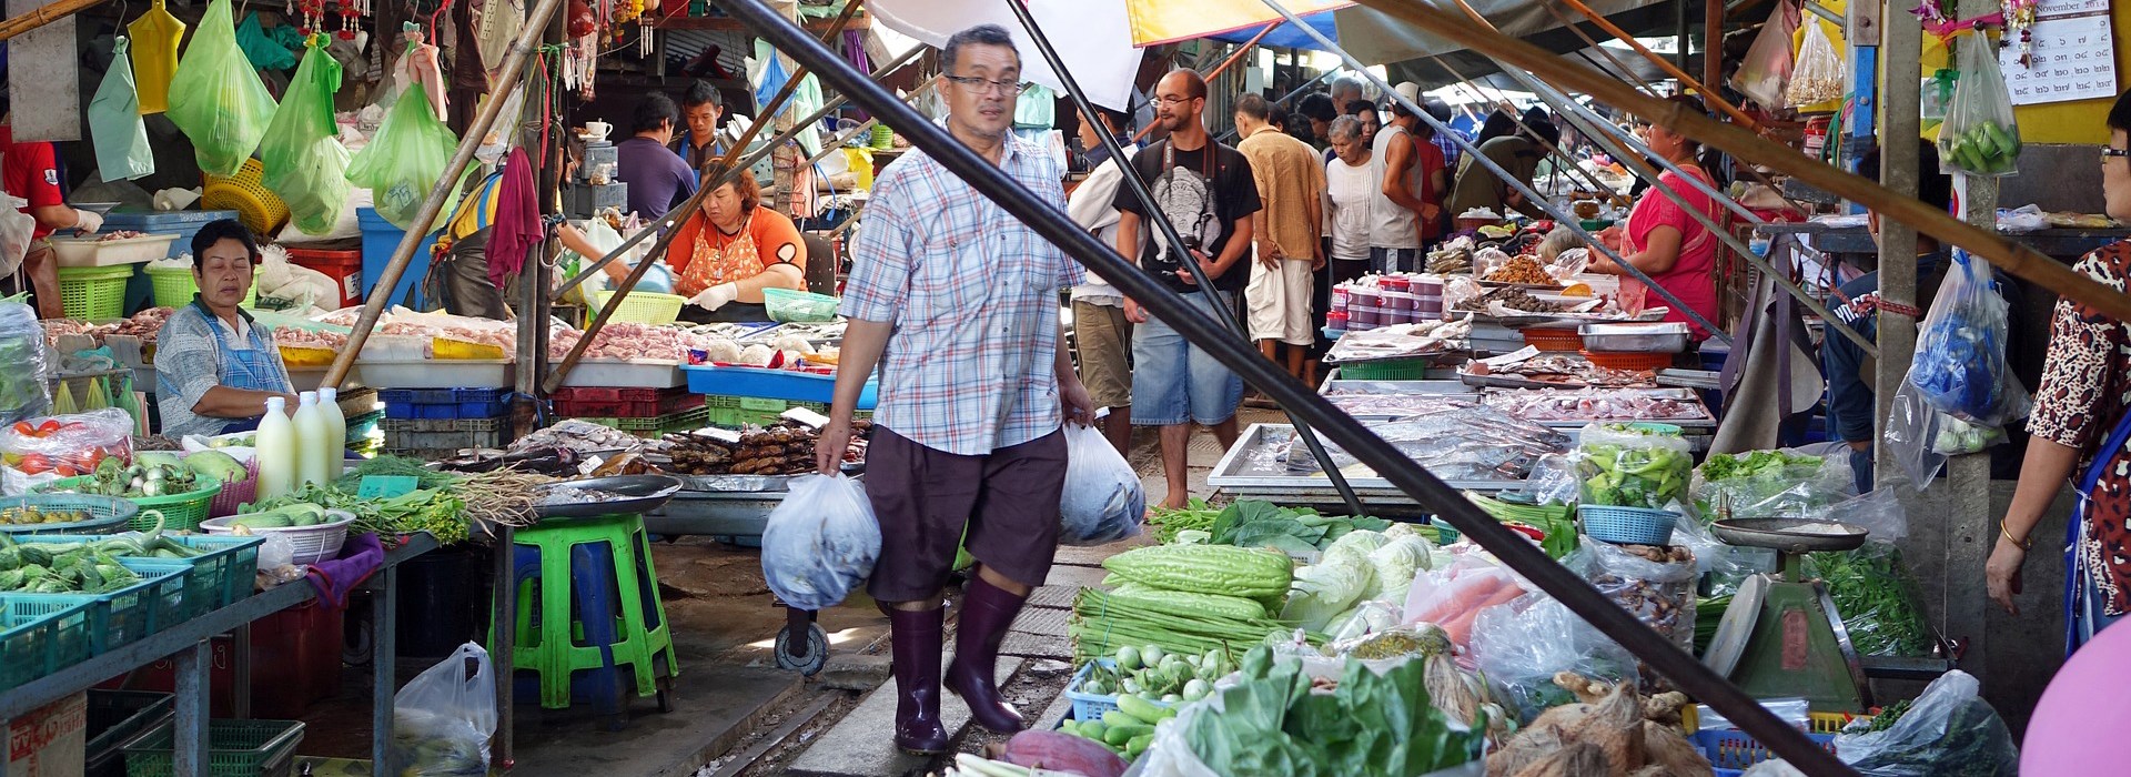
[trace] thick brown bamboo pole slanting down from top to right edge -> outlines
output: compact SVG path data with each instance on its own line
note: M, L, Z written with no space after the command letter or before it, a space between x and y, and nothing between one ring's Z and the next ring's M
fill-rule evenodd
M2056 292L2059 296L2093 304L2103 315L2131 321L2131 296L2095 283L2056 260L2037 253L2035 249L2005 241L2003 236L1971 224L1963 224L1939 209L1888 192L1877 183L1837 170L1835 166L1820 164L1820 160L1811 160L1786 145L1762 138L1747 128L1705 117L1698 111L1688 111L1686 106L1666 100L1647 98L1609 75L1562 62L1553 53L1547 53L1530 43L1502 36L1500 32L1477 30L1473 23L1451 15L1449 11L1396 0L1357 2L1432 34L1466 40L1470 49L1551 81L1558 89L1590 94L1613 106L1628 109L1649 117L1652 121L1664 123L1666 128L1696 140L1715 145L1737 158L1790 172L1799 181L1811 183L1880 213L1882 219L1912 224L1918 232L1931 234L1939 238L1939 243L1963 247L2005 272Z

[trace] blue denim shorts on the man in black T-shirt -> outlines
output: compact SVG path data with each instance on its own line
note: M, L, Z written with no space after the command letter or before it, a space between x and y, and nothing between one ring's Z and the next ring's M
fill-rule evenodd
M1185 294L1191 311L1219 319L1208 294L1221 294L1234 311L1236 296L1225 292ZM1132 424L1172 426L1227 421L1242 404L1242 379L1198 345L1185 341L1159 317L1132 332Z

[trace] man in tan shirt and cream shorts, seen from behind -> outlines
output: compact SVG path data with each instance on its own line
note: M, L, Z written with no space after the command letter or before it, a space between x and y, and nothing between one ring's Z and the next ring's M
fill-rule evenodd
M1257 198L1266 204L1251 217L1253 249L1249 302L1251 338L1268 360L1279 362L1287 343L1287 373L1306 379L1302 362L1315 343L1311 332L1311 272L1323 268L1317 236L1323 234L1325 170L1317 151L1270 123L1272 104L1264 96L1236 98L1236 151L1251 160Z

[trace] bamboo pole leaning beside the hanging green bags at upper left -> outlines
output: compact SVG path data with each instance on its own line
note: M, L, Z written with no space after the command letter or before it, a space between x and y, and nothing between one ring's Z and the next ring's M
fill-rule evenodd
M503 72L497 75L497 92L507 92L518 87L518 81L526 72L526 60L539 49L541 36L548 32L548 19L554 9L560 9L563 0L541 0L533 6L526 17L524 32L518 40L511 40L509 55L503 57ZM437 221L443 213L443 202L452 198L452 189L458 187L458 175L467 170L473 162L473 149L482 145L488 128L497 123L497 115L503 113L503 102L509 100L488 100L482 111L473 115L473 126L460 134L458 149L452 151L452 162L445 162L443 175L437 177L437 185L428 189L428 198L413 213L413 228L401 236L401 245L392 249L392 260L386 262L384 272L377 275L377 290L362 304L362 317L356 319L356 328L347 332L347 345L341 353L332 356L332 366L326 368L326 377L318 385L339 387L347 379L347 370L356 364L356 356L362 353L362 343L371 338L371 330L377 326L377 317L384 315L386 302L392 298L392 290L398 287L403 275L407 275L407 262L413 262L413 251L420 249L422 238L428 236L428 226Z

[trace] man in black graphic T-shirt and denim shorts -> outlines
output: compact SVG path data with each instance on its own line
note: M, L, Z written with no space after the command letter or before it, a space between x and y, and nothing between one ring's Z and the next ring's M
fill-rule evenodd
M1206 79L1191 70L1170 70L1155 85L1155 121L1168 138L1149 145L1132 158L1132 166L1149 181L1155 206L1176 226L1185 249L1206 270L1213 290L1200 287L1168 241L1149 238L1146 204L1132 189L1117 192L1117 253L1161 279L1198 315L1219 319L1219 311L1236 309L1236 292L1249 281L1249 270L1236 270L1251 251L1251 215L1259 211L1257 181L1251 160L1215 143L1200 115L1206 111ZM1140 251L1140 243L1149 249ZM1223 304L1215 304L1213 296ZM1191 498L1189 447L1191 424L1213 428L1221 449L1236 445L1236 407L1242 404L1242 379L1168 321L1149 319L1132 298L1125 298L1125 319L1142 324L1132 334L1132 424L1161 428L1161 473L1170 494L1164 507L1185 507Z

